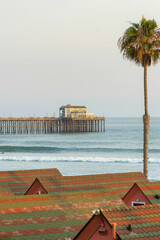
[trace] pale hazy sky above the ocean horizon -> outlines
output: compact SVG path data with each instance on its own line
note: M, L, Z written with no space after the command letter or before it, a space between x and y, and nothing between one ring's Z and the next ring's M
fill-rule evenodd
M159 0L0 0L0 117L58 116L85 105L106 117L144 114L143 68L117 46L130 22L160 26ZM148 69L160 117L160 62Z

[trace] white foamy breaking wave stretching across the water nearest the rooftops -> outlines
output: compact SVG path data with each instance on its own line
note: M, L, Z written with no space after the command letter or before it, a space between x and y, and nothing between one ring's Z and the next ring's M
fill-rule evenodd
M95 163L142 163L140 158L100 158L100 157L54 157L54 156L0 156L0 161L21 162L95 162ZM160 159L149 159L149 163L160 163Z

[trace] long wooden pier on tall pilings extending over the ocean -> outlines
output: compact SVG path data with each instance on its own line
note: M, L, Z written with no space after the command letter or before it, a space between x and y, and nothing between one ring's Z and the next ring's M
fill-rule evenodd
M105 132L105 118L0 118L0 134Z

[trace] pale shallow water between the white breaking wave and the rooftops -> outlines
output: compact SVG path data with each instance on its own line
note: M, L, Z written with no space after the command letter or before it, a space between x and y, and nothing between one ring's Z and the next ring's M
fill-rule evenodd
M0 161L1 171L57 168L64 176L143 172L142 163L97 163L97 162L20 162ZM160 181L159 164L149 165L149 181Z

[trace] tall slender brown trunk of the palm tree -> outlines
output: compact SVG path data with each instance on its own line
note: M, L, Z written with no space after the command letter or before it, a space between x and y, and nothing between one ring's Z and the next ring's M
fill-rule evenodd
M150 118L148 115L147 64L144 66L144 103L145 103L145 114L143 116L143 123L144 123L143 173L148 178L148 140L149 140Z

